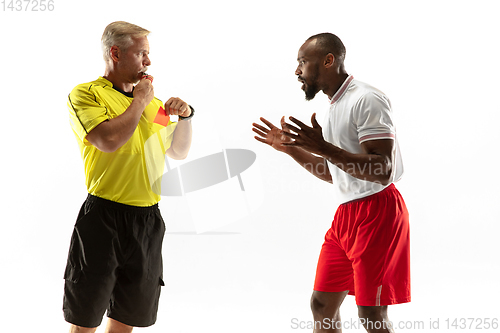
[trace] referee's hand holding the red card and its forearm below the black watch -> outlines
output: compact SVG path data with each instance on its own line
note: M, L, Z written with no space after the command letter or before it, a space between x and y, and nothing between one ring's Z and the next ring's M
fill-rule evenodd
M178 97L171 97L165 102L165 111L169 115L181 117L189 117L192 112L189 105ZM191 119L182 120L179 118L172 144L166 152L167 156L175 160L185 159L191 147L192 133Z

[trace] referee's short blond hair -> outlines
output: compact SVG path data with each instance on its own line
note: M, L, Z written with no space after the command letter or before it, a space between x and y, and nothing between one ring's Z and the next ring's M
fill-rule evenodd
M108 62L111 60L109 52L113 45L118 46L120 50L126 52L134 43L132 38L144 37L149 35L149 33L149 30L125 21L116 21L108 24L101 38L104 61Z

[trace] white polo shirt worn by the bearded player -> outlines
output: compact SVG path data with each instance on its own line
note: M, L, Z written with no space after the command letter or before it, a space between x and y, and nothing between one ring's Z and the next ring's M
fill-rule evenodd
M326 141L353 154L362 154L361 143L368 140L392 139L394 142L391 183L403 174L403 161L392 119L391 102L380 90L350 75L330 101L330 111L323 124ZM352 164L352 163L351 163ZM348 164L349 168L356 167ZM364 181L349 175L328 162L333 185L341 203L360 199L382 191L388 185ZM367 172L381 172L381 166Z

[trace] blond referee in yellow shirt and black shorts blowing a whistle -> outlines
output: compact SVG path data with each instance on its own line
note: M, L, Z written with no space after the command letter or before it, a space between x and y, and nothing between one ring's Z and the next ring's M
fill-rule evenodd
M184 159L194 110L177 97L163 104L145 72L149 31L109 24L101 43L104 75L68 96L88 196L74 227L64 274L70 332L131 332L156 321L163 283L165 224L158 209L165 154ZM170 116L179 121L173 122Z

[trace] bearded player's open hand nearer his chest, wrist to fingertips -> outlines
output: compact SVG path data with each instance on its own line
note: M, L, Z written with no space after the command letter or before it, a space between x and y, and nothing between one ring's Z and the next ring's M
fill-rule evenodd
M283 135L290 139L283 143L283 145L301 148L310 153L321 155L322 148L324 144L326 144L326 141L323 138L321 126L316 120L316 113L313 113L311 116L312 127L307 126L294 117L290 117L290 121L295 125L286 122L282 124Z

